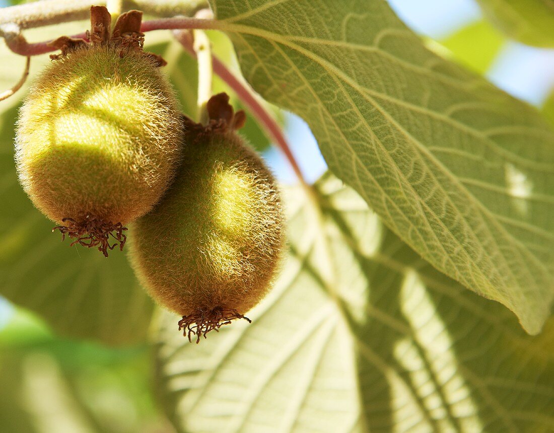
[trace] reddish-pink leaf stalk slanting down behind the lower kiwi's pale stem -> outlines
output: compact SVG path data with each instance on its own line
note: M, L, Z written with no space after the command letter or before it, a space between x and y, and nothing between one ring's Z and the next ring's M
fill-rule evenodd
M186 31L176 31L173 32L175 38L187 51L187 53L192 56L196 56L192 46L191 34ZM222 79L227 85L233 89L237 94L240 101L247 107L250 113L256 118L258 123L264 128L266 134L269 136L271 141L274 141L276 145L280 148L281 152L285 155L287 161L289 162L291 168L293 168L294 173L296 174L299 181L304 185L308 190L311 191L311 186L304 179L304 175L296 162L296 158L293 155L293 152L290 150L290 146L281 127L275 121L274 117L269 113L269 111L260 104L257 97L254 94L254 91L248 86L248 84L243 83L239 80L237 76L229 69L225 64L217 58L217 56L212 55L212 65L213 71L216 73L220 79Z

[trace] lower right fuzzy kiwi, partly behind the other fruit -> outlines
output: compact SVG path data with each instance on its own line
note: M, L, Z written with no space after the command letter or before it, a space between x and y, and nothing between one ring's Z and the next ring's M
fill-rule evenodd
M209 123L186 120L175 183L152 212L132 224L129 256L142 285L182 316L191 340L255 306L265 295L283 246L275 179L235 130L225 94L208 101Z

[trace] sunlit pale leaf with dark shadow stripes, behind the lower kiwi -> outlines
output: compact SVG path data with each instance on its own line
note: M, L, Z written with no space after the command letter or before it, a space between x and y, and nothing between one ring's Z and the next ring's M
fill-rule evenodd
M549 431L554 321L527 335L387 230L342 182L288 200L273 291L199 344L166 314L158 380L179 432Z

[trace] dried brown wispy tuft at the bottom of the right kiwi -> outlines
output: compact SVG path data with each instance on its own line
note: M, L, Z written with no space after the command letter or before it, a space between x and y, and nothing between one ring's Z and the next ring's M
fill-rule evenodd
M252 323L248 317L238 313L237 310L217 307L211 311L198 310L196 313L183 316L178 323L179 331L183 329L183 336L188 337L188 341L191 343L192 336L196 336L196 344L198 344L202 336L206 338L208 332L214 330L218 332L220 327L235 319L244 319L248 323Z

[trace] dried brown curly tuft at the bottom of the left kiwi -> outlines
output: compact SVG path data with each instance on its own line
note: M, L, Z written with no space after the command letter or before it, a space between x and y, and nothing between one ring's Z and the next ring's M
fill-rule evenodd
M86 246L86 248L95 248L98 246L98 250L108 256L107 251L113 250L117 244L122 251L127 240L127 236L124 231L127 228L121 223L105 223L91 216L86 216L83 220L75 221L72 218L64 218L63 223L66 225L58 225L52 229L52 231L59 230L62 237L61 240L65 240L65 236L75 239L70 246L76 244ZM110 244L110 238L115 240Z

